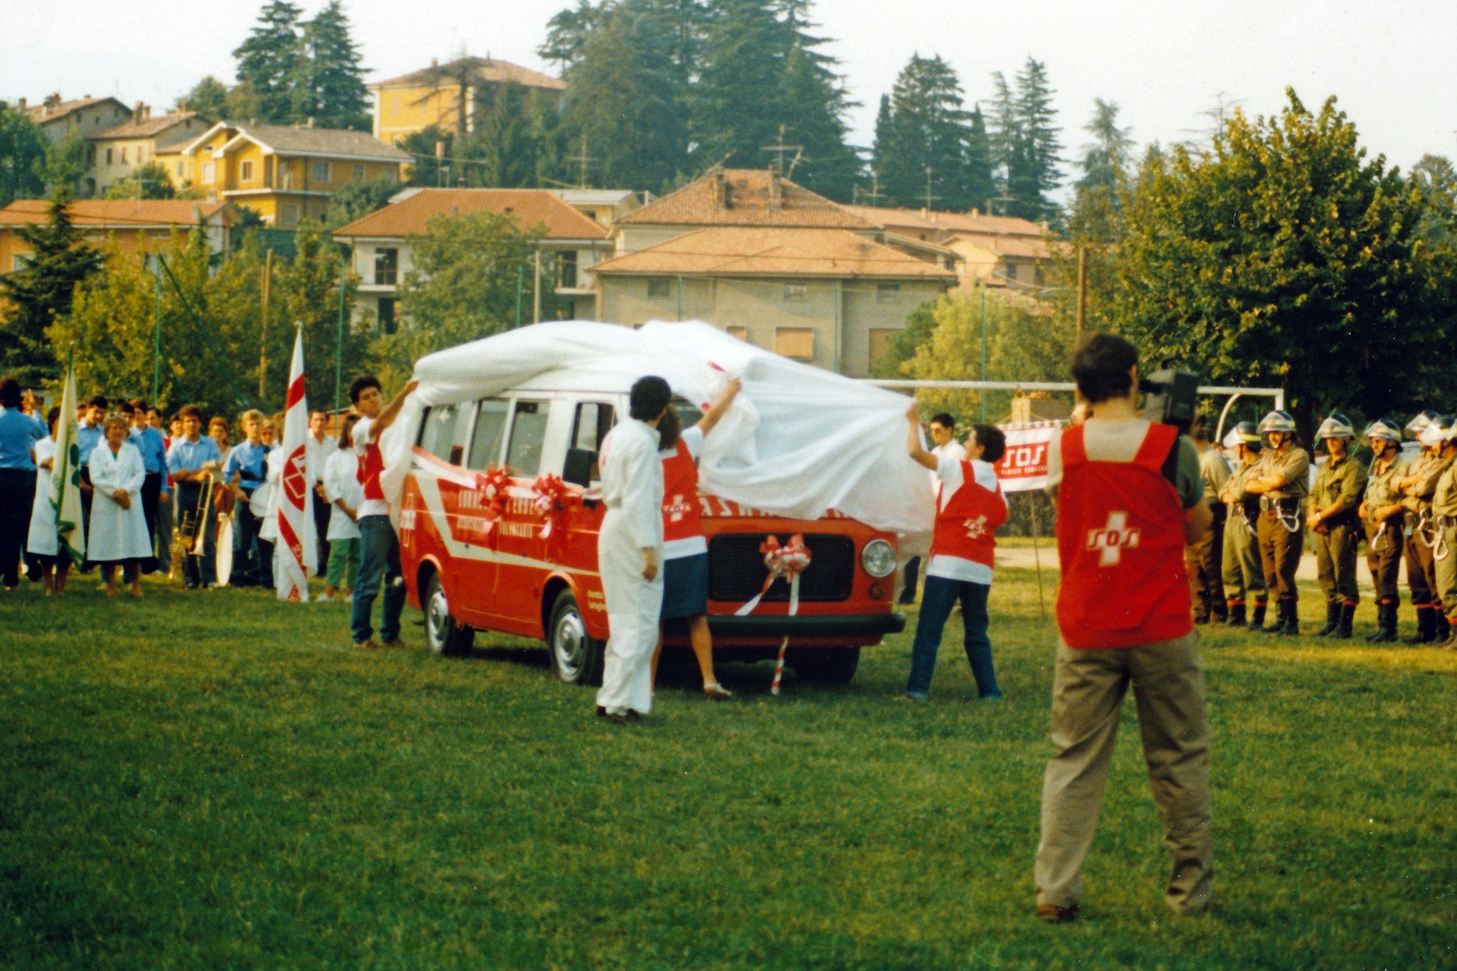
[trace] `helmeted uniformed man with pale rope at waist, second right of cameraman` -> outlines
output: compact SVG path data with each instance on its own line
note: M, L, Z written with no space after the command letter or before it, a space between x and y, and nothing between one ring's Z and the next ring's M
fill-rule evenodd
M1260 560L1265 563L1265 585L1275 594L1275 623L1266 633L1300 633L1295 607L1295 569L1304 546L1304 524L1300 517L1301 499L1310 492L1310 453L1295 444L1295 419L1289 412L1271 412L1260 419L1265 453L1244 485L1260 496Z

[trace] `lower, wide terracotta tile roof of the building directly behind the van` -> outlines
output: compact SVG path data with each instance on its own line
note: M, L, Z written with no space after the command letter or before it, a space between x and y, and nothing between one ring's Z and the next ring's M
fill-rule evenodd
M702 229L586 268L593 274L892 277L956 282L956 274L849 230Z

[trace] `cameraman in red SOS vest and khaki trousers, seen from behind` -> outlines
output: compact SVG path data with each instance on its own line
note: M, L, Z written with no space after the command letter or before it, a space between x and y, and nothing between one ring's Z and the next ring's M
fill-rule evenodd
M1214 825L1209 726L1199 635L1189 613L1185 543L1209 528L1199 459L1171 425L1138 413L1138 349L1094 333L1072 358L1093 418L1064 429L1048 456L1058 491L1058 645L1052 742L1042 788L1037 917L1078 916L1081 869L1103 802L1129 684L1174 857L1166 901L1209 905Z

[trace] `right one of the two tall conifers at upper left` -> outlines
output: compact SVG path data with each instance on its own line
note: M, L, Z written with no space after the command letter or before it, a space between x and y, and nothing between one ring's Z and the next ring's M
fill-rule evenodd
M303 25L302 51L294 83L299 95L294 118L313 118L321 128L369 131L364 68L339 0L329 0Z

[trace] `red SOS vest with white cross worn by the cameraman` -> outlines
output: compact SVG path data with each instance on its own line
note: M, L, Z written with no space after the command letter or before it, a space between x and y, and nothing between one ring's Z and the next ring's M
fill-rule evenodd
M1093 461L1062 432L1058 627L1069 648L1132 648L1193 630L1185 510L1163 475L1179 429L1152 424L1132 461Z

